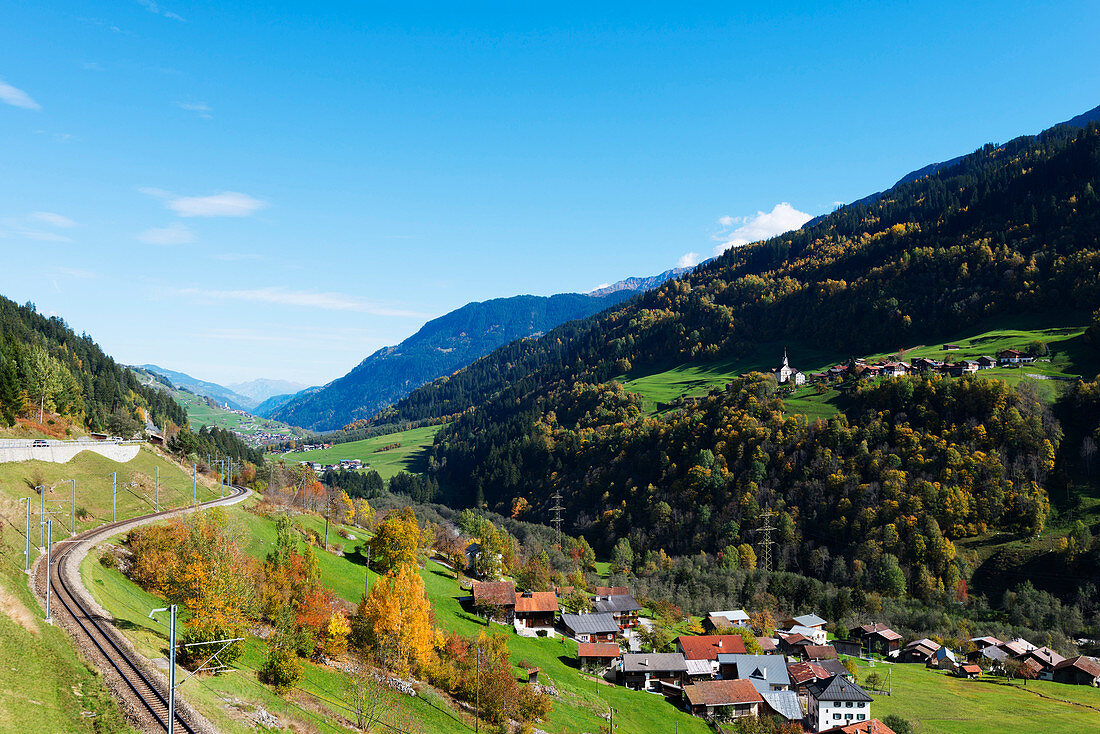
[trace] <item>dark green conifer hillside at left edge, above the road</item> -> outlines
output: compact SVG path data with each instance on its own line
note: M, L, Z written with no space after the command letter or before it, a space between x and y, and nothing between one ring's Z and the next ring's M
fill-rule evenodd
M168 394L142 385L91 337L0 296L0 421L37 419L40 408L91 430L129 426L139 409L161 427L187 425Z

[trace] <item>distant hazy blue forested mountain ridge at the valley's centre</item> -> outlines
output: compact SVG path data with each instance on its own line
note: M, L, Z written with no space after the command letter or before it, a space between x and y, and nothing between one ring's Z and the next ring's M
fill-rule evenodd
M316 430L342 428L372 417L424 383L450 374L502 344L590 316L632 295L631 289L620 289L603 295L514 296L466 304L428 321L400 344L380 349L343 377L295 395L271 409L270 417Z

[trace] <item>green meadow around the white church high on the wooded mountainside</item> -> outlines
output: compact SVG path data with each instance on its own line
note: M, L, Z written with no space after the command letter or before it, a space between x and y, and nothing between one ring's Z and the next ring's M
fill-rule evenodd
M1064 385L1053 380L1035 380L1030 374L1053 376L1091 377L1100 369L1100 354L1085 344L1086 319L1076 314L1050 315L1037 314L1000 319L996 322L979 326L948 343L958 344L958 351L945 352L943 344L923 344L906 348L904 359L914 360L921 357L941 360L958 361L976 359L981 355L994 357L999 350L1023 348L1032 341L1042 341L1052 351L1049 361L1036 362L1021 369L983 370L981 376L998 377L1011 384L1023 381L1031 382L1048 401L1057 398ZM646 407L654 409L658 403L668 403L681 396L705 395L713 388L721 388L738 374L751 371L768 371L778 366L784 344L768 342L757 344L754 352L747 355L732 358L718 362L689 363L663 369L634 372L622 376L627 390L642 396ZM833 364L848 359L848 354L826 351L805 350L798 344L787 346L791 364L804 372L821 372ZM897 352L865 354L868 361L884 359ZM818 394L813 386L801 387L787 398L788 413L803 414L811 420L828 417L839 410L838 394L827 390Z

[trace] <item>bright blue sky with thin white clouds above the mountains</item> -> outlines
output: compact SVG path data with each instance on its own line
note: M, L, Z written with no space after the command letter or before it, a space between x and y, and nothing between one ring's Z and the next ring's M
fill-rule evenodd
M1100 103L1094 2L519 6L0 2L0 293L323 383Z

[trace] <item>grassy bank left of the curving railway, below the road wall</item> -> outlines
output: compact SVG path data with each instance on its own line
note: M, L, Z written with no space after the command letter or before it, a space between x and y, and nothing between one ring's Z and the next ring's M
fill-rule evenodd
M150 450L141 451L138 458L124 464L88 452L66 464L37 461L0 464L0 514L7 521L0 544L0 731L91 732L97 720L103 731L131 731L124 725L100 677L77 657L68 635L42 622L42 609L23 574L26 515L19 497L33 493L24 480L35 469L42 472L47 484L76 478L77 505L100 519L110 519L111 481L107 474L119 472L121 487L132 480L152 478L155 467L161 467L162 504L176 506L190 502L190 478ZM147 494L152 501L151 492L134 491L142 497ZM213 496L213 492L201 485L199 494L200 499L204 494ZM47 495L51 501L68 497L67 483ZM63 524L68 523L68 505L51 504L63 507L55 516L58 523L54 537L64 538L67 533ZM35 513L37 508L38 504L34 503ZM148 505L143 499L120 489L118 510L119 516L124 517L148 512ZM37 517L32 517L32 523L36 522ZM78 521L77 526L85 529L98 523ZM32 543L35 540L37 534L32 530ZM32 548L32 552L36 551ZM91 713L81 715L81 712Z

